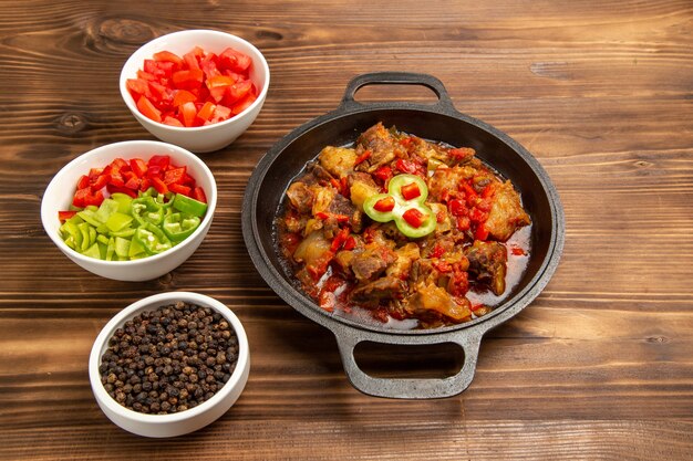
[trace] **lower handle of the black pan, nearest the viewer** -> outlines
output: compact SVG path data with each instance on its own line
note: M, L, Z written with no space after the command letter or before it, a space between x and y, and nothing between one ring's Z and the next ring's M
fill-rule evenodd
M349 334L341 333L339 329L333 329L337 337L337 344L342 357L342 364L344 371L349 377L351 384L360 391L387 398L401 398L401 399L431 399L431 398L444 398L455 396L465 390L474 378L474 371L476 370L476 362L479 355L479 344L482 342L483 334L469 335L446 335L439 339L425 340L424 344L442 344L442 343L455 343L459 345L464 350L464 365L462 369L454 376L449 376L443 379L426 378L426 379L411 379L411 378L374 378L366 375L354 358L354 348L363 340L371 340L381 344L394 344L394 345L415 345L422 344L421 338L413 336L396 336L392 340L387 336L371 336L369 334L362 334L365 332L355 332L351 329Z

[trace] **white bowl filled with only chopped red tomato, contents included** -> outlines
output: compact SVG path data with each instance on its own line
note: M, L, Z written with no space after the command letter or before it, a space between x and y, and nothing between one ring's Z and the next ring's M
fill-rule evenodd
M157 138L195 153L221 149L256 119L269 66L246 40L219 31L159 36L123 65L120 88L135 118Z

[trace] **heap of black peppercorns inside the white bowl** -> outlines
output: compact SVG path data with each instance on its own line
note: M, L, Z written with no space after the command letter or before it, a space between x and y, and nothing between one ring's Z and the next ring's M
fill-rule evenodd
M141 313L107 344L99 366L104 389L143 413L200 405L230 379L238 359L238 338L225 317L184 302Z

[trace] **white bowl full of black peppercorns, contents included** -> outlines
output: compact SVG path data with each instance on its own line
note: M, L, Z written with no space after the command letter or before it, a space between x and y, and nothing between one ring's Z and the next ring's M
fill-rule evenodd
M238 317L198 293L161 293L125 307L101 331L89 360L96 402L121 428L176 437L221 417L250 371Z

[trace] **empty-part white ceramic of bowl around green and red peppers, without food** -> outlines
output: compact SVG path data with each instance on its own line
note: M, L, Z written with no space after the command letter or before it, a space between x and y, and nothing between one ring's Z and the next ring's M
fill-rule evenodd
M195 232L176 247L163 253L135 261L102 261L74 251L61 239L58 211L66 210L82 175L90 168L103 168L113 159L142 158L145 161L153 155L168 155L172 163L187 166L187 171L201 186L207 196L207 213ZM155 140L128 140L108 144L82 154L65 165L53 177L41 201L43 229L60 251L83 269L106 279L141 282L156 279L183 264L205 239L217 207L217 184L209 168L195 154L178 146Z

